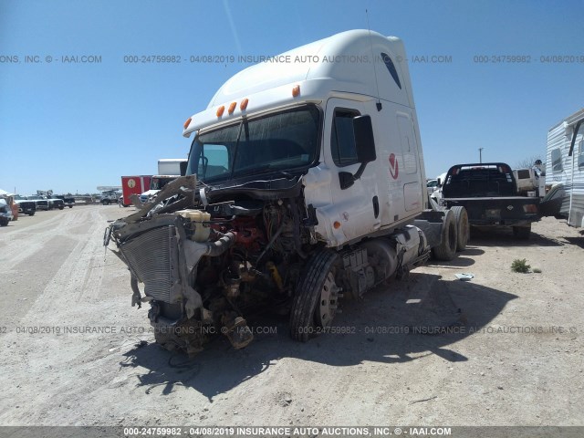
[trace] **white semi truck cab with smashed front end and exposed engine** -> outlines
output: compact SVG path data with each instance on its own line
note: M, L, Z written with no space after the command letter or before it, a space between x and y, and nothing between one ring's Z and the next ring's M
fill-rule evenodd
M258 306L307 340L339 300L465 245L464 209L427 210L401 40L354 30L278 58L185 122L186 175L108 229L168 349L195 353L219 329L245 347Z

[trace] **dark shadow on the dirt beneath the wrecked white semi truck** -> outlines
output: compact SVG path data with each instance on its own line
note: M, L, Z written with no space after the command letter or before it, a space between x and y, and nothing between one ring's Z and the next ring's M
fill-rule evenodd
M431 354L464 361L467 358L455 351L455 343L469 336L469 328L488 325L514 298L472 282L412 273L378 287L360 302L345 302L331 332L307 343L290 339L287 318L266 316L249 321L262 332L245 349L232 349L221 335L193 359L153 343L141 344L123 353L120 367L140 370L136 385L147 393L162 387L162 394L168 394L184 386L213 401L283 358L334 367L365 360L397 364Z

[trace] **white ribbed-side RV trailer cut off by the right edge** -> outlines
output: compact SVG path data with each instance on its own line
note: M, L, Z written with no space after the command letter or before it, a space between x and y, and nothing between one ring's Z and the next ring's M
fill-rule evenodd
M584 109L547 132L546 181L561 185L564 197L559 215L571 226L584 226Z

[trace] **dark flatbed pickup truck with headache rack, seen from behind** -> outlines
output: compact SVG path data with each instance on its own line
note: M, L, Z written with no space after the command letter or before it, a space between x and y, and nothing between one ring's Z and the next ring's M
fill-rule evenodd
M446 173L441 204L464 206L471 225L512 226L528 239L539 220L539 198L521 196L511 167L503 162L456 164Z

